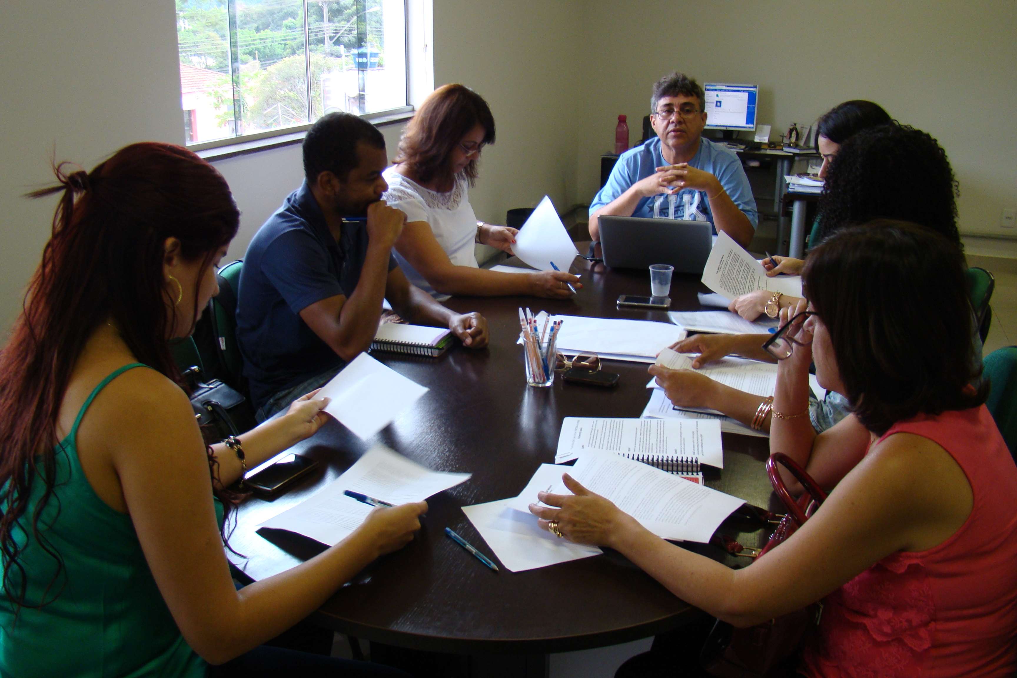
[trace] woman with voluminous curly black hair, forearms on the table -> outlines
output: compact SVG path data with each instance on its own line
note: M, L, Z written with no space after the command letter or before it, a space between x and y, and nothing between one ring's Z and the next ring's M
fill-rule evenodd
M956 193L950 162L936 139L913 127L890 123L862 130L840 146L820 198L820 219L825 235L870 220L910 221L940 233L960 249ZM799 301L782 298L782 309ZM694 368L731 354L773 362L773 357L762 349L768 337L694 334L671 348L699 354L693 361ZM770 429L769 404L761 395L726 386L694 370L655 365L650 373L675 406L710 408L746 426L755 421L762 430ZM846 415L846 407L836 393L831 393L828 402L814 402L810 411L817 431L830 428Z

